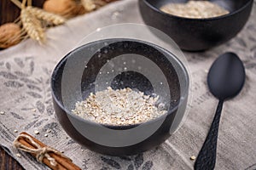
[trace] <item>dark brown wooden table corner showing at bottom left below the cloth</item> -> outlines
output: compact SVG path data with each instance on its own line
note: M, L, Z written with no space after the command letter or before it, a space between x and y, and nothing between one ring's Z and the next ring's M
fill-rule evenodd
M18 161L0 147L0 170L24 170Z

